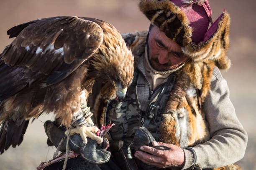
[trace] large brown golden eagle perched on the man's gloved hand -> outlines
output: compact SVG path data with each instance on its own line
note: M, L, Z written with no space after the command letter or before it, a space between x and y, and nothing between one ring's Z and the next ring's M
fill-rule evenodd
M70 127L81 115L81 105L87 105L95 81L109 83L119 97L131 84L132 52L118 30L102 20L44 18L17 25L7 34L16 38L0 54L1 154L10 145L20 145L29 119L44 112L53 112ZM97 128L80 130L84 143L86 136L99 142L93 134Z

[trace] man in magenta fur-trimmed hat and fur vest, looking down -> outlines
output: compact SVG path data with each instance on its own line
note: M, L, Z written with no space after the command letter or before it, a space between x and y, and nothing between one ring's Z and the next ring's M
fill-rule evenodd
M228 14L208 30L208 0L141 0L139 7L151 26L148 33L123 35L136 59L125 99L109 100L114 95L106 90L92 94L96 123L115 123L108 134L114 158L97 168L239 169L233 163L243 158L247 134L219 71L230 67ZM135 149L141 126L156 141Z

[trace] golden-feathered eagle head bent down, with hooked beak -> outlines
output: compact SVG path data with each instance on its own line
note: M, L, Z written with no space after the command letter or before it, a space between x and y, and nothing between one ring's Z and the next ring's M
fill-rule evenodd
M97 77L112 83L117 99L123 99L131 85L133 61L133 53L117 30L104 34L102 45L92 59L92 65L97 70Z

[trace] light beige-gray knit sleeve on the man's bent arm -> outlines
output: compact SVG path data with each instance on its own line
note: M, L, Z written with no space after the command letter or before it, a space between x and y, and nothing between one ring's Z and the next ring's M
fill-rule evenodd
M193 161L201 168L219 168L243 158L247 133L239 122L235 108L229 98L229 89L220 70L215 67L209 94L205 98L205 117L209 123L210 140L184 150L185 165L182 169L192 166Z

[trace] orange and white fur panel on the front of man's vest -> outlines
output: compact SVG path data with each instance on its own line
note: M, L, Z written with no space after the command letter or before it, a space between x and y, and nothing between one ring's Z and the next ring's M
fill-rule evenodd
M161 140L180 147L194 146L210 138L202 108L210 90L213 61L187 62L175 72L176 82L166 103L160 128Z

